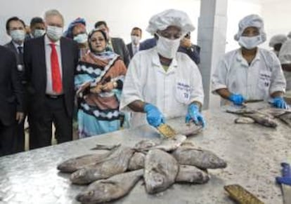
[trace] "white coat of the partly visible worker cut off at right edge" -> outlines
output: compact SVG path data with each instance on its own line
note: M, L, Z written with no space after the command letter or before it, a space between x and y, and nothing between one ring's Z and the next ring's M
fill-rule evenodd
M279 53L279 60L281 64L291 64L291 39L283 43ZM286 79L286 90L291 90L291 72L283 72Z

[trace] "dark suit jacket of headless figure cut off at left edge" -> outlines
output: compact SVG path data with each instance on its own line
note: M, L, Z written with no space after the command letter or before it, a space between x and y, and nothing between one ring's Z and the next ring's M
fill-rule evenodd
M14 53L0 46L0 120L15 123L16 111L22 111L23 89L18 78Z

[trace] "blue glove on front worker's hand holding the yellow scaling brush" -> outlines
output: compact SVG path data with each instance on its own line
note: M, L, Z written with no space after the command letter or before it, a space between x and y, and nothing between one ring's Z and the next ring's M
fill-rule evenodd
M143 109L146 113L146 120L148 121L148 124L157 128L157 126L164 123L163 114L153 104L145 104Z

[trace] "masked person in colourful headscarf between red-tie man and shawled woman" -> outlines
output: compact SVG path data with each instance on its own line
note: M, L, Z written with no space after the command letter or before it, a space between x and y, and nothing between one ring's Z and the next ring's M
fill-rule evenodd
M88 34L86 32L86 21L84 18L77 18L72 21L67 27L64 36L78 43L79 57L84 56L89 51Z

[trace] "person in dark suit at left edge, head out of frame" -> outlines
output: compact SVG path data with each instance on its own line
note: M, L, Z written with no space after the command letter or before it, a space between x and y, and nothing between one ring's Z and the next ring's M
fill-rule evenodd
M14 53L0 46L0 156L15 153L15 126L21 123L22 86Z

